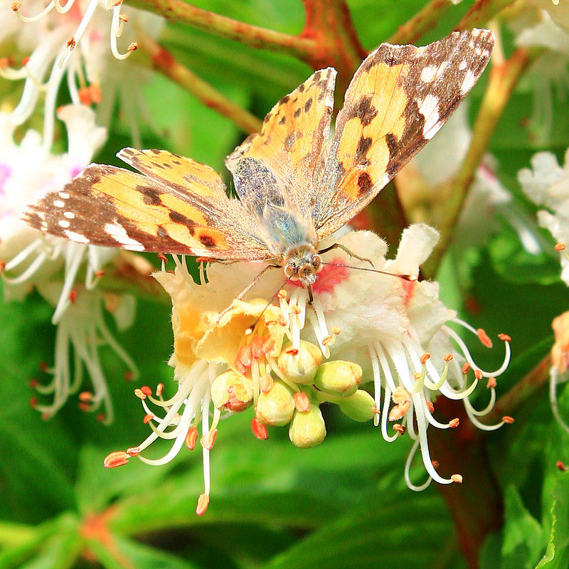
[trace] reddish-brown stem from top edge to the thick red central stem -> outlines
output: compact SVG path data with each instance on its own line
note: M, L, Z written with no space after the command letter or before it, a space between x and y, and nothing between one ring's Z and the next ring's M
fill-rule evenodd
M252 48L262 48L287 53L306 60L317 49L316 42L302 36L291 36L249 23L221 16L214 12L191 6L183 0L129 0L129 4L164 16L170 21L187 23L200 30L222 38L228 38Z

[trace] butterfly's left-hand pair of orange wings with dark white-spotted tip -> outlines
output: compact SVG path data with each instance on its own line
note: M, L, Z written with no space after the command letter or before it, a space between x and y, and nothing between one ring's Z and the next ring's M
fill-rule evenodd
M148 175L92 164L62 191L28 206L23 218L90 245L220 259L271 256L254 237L243 203L228 198L208 166L164 151L121 154ZM168 161L172 168L164 166Z

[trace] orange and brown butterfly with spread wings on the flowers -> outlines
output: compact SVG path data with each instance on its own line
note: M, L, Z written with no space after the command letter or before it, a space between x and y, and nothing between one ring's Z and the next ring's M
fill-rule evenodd
M353 76L333 136L336 70L317 71L226 159L237 198L209 166L166 150L125 148L117 156L138 173L91 164L29 206L24 219L77 243L266 260L312 292L319 241L438 132L493 47L493 33L479 29L421 48L382 43Z

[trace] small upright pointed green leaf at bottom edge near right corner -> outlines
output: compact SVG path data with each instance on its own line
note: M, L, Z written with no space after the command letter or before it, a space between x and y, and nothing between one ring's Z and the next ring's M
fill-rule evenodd
M501 569L533 568L543 550L543 530L523 506L515 486L506 488Z

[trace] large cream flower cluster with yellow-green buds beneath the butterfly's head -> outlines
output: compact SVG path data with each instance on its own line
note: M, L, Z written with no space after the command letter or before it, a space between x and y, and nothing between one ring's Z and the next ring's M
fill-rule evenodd
M403 233L395 259L386 260L387 246L376 235L346 233L338 240L341 249L324 255L312 304L304 287L294 282L283 286L278 270L265 272L255 282L255 299L235 299L260 272L257 262L230 267L213 263L207 278L202 264L199 285L184 260L174 257L174 272L166 271L163 262L154 277L172 298L174 353L169 363L178 391L164 400L164 385L156 395L147 386L136 390L152 433L137 447L111 453L105 466L121 466L135 456L164 464L184 444L194 448L201 426L205 490L197 513L203 514L210 494L209 451L222 415L252 408L257 438L268 437L267 426L288 425L294 445L313 447L326 436L320 407L332 404L353 420L373 419L388 442L405 432L410 435L414 444L405 479L411 489L423 489L432 479L461 482L459 474L439 474L430 456L427 428L458 425L457 419L435 418L436 398L462 400L469 419L485 430L511 422L508 417L497 425L479 420L494 405L494 378L509 362L510 339L499 336L506 346L503 365L483 371L450 324L462 326L490 347L485 332L457 319L438 299L435 283L404 277L418 275L437 239L429 226L413 225ZM356 253L369 261L356 258ZM490 401L480 411L469 395L482 378L488 378ZM156 460L143 457L158 438L174 440L169 452ZM410 467L419 449L429 477L417 485L410 479Z

